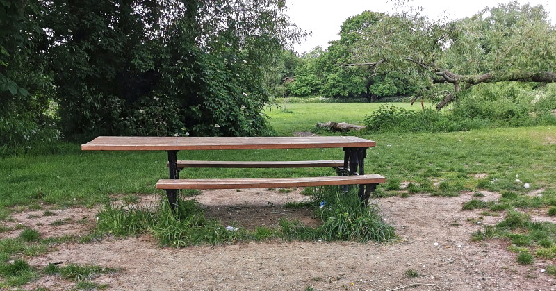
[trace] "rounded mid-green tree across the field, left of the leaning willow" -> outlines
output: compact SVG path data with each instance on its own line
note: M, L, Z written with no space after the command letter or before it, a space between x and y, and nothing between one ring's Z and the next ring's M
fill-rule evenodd
M339 40L329 42L325 50L316 47L302 56L304 65L297 70L295 81L288 85L291 93L298 96L363 96L371 100L411 92L402 74L344 65L350 63L352 53L365 34L384 17L383 13L370 11L348 17L341 25Z

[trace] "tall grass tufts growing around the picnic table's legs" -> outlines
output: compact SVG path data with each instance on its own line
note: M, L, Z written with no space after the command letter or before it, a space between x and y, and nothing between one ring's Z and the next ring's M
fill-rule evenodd
M326 203L320 208L322 201ZM100 233L111 235L152 233L162 245L174 247L270 238L360 242L389 242L396 238L393 227L377 215L377 208L361 206L355 192L345 194L338 188L313 188L311 203L292 206L312 207L315 217L322 219L322 225L311 228L298 221L282 219L279 229L261 226L254 231L243 228L229 231L218 220L205 217L195 200L180 199L176 213L172 213L167 201L161 199L161 206L155 210L107 204L97 215L97 226Z

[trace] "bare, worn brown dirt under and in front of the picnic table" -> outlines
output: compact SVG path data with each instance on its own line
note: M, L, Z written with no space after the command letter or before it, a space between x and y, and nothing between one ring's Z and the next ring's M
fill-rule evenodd
M213 190L197 200L224 224L275 226L286 217L317 225L309 210L283 207L288 201L308 199L299 192ZM498 198L496 193L484 194L482 199ZM144 235L61 244L28 260L37 267L61 262L120 268L94 279L108 284L108 290L556 290L556 279L541 272L550 262L536 259L533 265L520 265L503 240L471 242L471 234L482 225L503 218L484 217L478 224L479 211L461 210L472 195L376 199L384 220L402 238L393 244L274 240L175 249L160 247ZM154 206L157 199L141 200ZM42 237L81 235L95 226L96 209L53 211L56 215L47 217L42 216L44 210L19 213L10 224L39 229ZM65 224L50 225L58 220ZM17 231L1 234L6 235L17 236ZM420 276L407 277L409 269ZM43 276L24 289L67 290L74 285L60 276Z

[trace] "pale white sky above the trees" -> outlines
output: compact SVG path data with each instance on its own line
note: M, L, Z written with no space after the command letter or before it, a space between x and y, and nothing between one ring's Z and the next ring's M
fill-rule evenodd
M423 14L439 18L444 12L451 19L471 16L486 7L498 6L498 3L508 3L509 0L413 0L409 6L423 7ZM531 6L543 5L549 12L554 24L556 21L556 3L549 4L548 0L519 0L519 3L529 3ZM329 40L338 39L340 25L347 17L358 15L370 10L376 12L393 12L395 5L389 0L291 0L288 1L288 15L291 20L305 31L313 35L307 37L302 44L294 46L297 53L311 51L313 47L328 47Z

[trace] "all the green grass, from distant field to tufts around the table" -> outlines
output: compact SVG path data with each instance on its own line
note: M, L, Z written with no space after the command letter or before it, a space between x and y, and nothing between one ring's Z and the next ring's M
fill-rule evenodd
M366 114L379 107L379 103L357 104L287 104L286 110L267 110L271 124L278 135L293 135L294 131L312 131L316 122L362 124ZM405 108L418 110L420 106ZM322 118L326 117L327 120ZM334 133L327 133L334 134ZM340 135L340 133L337 133ZM352 133L348 133L352 134ZM456 196L462 191L480 193L488 190L502 193L502 198L493 203L482 203L477 194L473 203L464 207L481 209L483 212L500 215L507 212L506 219L497 226L487 226L473 235L473 240L503 238L512 246L528 252L534 258L553 258L556 252L556 231L552 224L530 222L517 215L514 208L541 208L548 215L556 215L556 155L553 140L554 126L523 128L496 128L489 130L453 133L357 133L362 138L377 142L377 147L368 150L365 160L367 173L386 176L387 183L379 186L374 197L390 197L406 191L411 194L434 194L445 197ZM343 156L341 149L273 149L260 151L181 151L179 159L192 160L325 160ZM112 195L123 197L125 203L138 201L137 193L162 194L154 185L158 178L167 176L166 153L162 151L81 151L79 144L62 143L56 154L27 153L18 156L0 157L0 220L9 220L13 211L26 209L56 209L74 205L92 206L107 203ZM79 166L78 166L79 165ZM181 173L188 178L255 178L283 176L334 175L332 169L185 169ZM482 178L474 178L481 174ZM516 181L518 176L519 182ZM129 178L133 177L133 178ZM401 185L409 183L402 190ZM525 183L530 188L523 187ZM539 194L528 194L538 190ZM310 190L304 190L308 193ZM189 195L198 192L186 193ZM314 193L313 193L314 194ZM335 198L329 197L327 203ZM331 199L328 201L328 199ZM320 201L314 201L319 202ZM352 202L342 202L350 204ZM350 204L352 205L352 204ZM332 204L325 209L333 209ZM189 206L186 206L186 208ZM297 207L291 205L290 207ZM311 207L315 207L312 204ZM135 235L152 232L158 237L166 236L177 245L197 242L209 244L234 240L265 240L268 238L327 240L366 240L381 230L373 228L368 233L345 231L349 223L377 223L384 237L389 229L379 224L373 212L354 213L334 206L333 211L316 213L325 222L321 229L307 228L300 222L282 221L279 228L260 228L254 232L229 232L218 222L212 222L197 213L197 216L182 217L171 222L170 217L152 224L155 218L151 210L144 211L129 207L106 208L102 219L105 235ZM338 218L348 215L345 221ZM44 210L44 216L56 215ZM375 216L373 216L375 215ZM157 219L159 217L156 217ZM350 220L351 219L351 220ZM159 219L160 220L160 219ZM56 223L63 224L63 220ZM100 224L99 224L100 226ZM156 226L156 227L155 227ZM191 231L192 226L202 226L204 231ZM19 226L18 226L19 227ZM195 227L193 227L195 228ZM197 227L198 228L198 227ZM186 231L189 229L188 232ZM0 228L0 231L9 231ZM29 233L33 231L28 231ZM158 233L158 234L157 234ZM206 233L208 239L204 238ZM214 233L214 234L213 234ZM327 235L322 235L327 233ZM338 234L339 233L339 234ZM83 242L97 240L102 234L94 233L81 239ZM521 236L523 235L523 236ZM33 234L29 236L32 238ZM187 238L187 239L186 239ZM34 239L34 238L33 238ZM50 242L46 239L25 241L26 238L0 240L0 262L21 256L44 253ZM56 242L52 242L56 243ZM35 271L32 271L33 273ZM31 278L31 273L21 278ZM23 274L23 273L22 273ZM6 281L6 278L3 278ZM11 279L10 279L11 280ZM17 284L18 278L14 278ZM24 281L24 279L22 279ZM11 284L11 283L10 283ZM1 286L0 286L1 287Z

